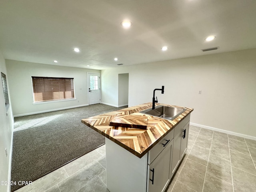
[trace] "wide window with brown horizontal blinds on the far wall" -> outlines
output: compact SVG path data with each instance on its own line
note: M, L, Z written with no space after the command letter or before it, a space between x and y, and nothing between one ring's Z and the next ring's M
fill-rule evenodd
M74 78L33 77L34 102L72 99Z

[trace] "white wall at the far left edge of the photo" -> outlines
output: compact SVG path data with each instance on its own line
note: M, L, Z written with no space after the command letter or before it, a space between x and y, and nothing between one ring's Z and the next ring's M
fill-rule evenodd
M6 71L6 64L0 51L0 72L6 75L7 85L9 76ZM7 86L8 89L10 88ZM12 131L13 131L13 116L12 116L12 104L10 101L10 91L8 108L8 115L6 115L6 107L4 100L4 91L2 82L0 82L0 181L10 181L10 167L12 159ZM7 156L5 154L5 148L7 150ZM10 186L0 185L0 191L10 191Z

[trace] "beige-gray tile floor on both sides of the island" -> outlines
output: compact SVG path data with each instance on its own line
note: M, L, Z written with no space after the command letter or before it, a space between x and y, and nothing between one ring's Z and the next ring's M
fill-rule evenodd
M256 190L256 141L190 126L186 153L168 192ZM105 146L16 192L108 192Z

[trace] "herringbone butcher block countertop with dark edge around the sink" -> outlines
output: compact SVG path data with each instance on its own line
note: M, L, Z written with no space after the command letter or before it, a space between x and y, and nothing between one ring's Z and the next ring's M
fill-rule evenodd
M140 113L142 110L152 108L152 103L145 103L82 119L82 123L125 148L138 158L142 158L181 120L193 111L192 108L156 103L156 106L158 105L185 108L186 110L175 119L167 120ZM120 125L115 124L115 122L124 121L125 124L122 124L122 126L110 126L110 122L112 125ZM133 126L133 124L136 125Z

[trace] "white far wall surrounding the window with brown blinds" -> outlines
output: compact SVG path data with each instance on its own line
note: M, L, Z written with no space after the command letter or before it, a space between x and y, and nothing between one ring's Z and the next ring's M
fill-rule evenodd
M14 116L88 105L87 72L99 70L6 60ZM33 104L31 76L74 78L76 100ZM80 88L82 88L80 90ZM79 102L78 102L79 101Z

